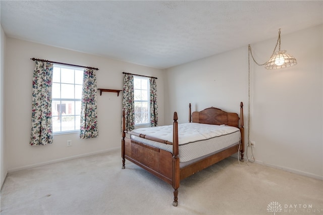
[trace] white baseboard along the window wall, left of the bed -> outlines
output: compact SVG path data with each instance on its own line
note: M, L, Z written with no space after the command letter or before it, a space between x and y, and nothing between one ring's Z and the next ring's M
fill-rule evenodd
M44 165L47 165L47 164L55 164L55 163L58 163L58 162L63 162L63 161L71 160L71 159L75 159L75 158L80 158L80 157L86 157L86 156L91 156L91 155L95 155L95 154L101 154L101 153L106 153L106 152L117 151L117 150L120 150L120 149L121 149L121 147L118 147L118 148L107 149L107 150L102 150L102 151L95 151L95 152L91 152L91 153L78 154L78 155L74 155L74 156L70 156L70 157L64 157L64 158L60 158L60 159L56 159L56 160L50 160L49 162L42 162L42 163L38 163L38 164L26 165L26 166L23 166L23 167L10 169L10 170L8 170L8 173L17 172L17 171L20 171L20 170L27 170L27 169L30 169L30 168L40 167L40 166L44 166ZM121 156L121 154L120 154L120 156Z

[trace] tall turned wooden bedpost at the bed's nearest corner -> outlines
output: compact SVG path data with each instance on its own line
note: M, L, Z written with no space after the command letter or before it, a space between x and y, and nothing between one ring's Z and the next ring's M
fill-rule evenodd
M173 205L178 205L178 188L180 186L180 158L178 157L178 117L174 112L173 124L173 188L174 188L174 202Z

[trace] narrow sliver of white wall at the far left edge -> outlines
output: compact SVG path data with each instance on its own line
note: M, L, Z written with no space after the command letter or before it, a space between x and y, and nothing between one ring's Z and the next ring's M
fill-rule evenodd
M0 188L5 182L8 167L6 160L5 144L5 119L4 119L4 73L5 73L5 52L6 52L6 34L1 26L1 57L0 57Z

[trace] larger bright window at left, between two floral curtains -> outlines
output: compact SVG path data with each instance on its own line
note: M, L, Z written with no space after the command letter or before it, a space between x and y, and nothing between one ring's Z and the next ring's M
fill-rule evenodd
M53 65L53 134L80 131L83 69Z

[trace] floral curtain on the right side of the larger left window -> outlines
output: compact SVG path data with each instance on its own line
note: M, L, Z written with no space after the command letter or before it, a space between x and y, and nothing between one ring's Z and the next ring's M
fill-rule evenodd
M98 136L96 91L95 72L93 69L85 69L81 102L80 138L82 139Z

